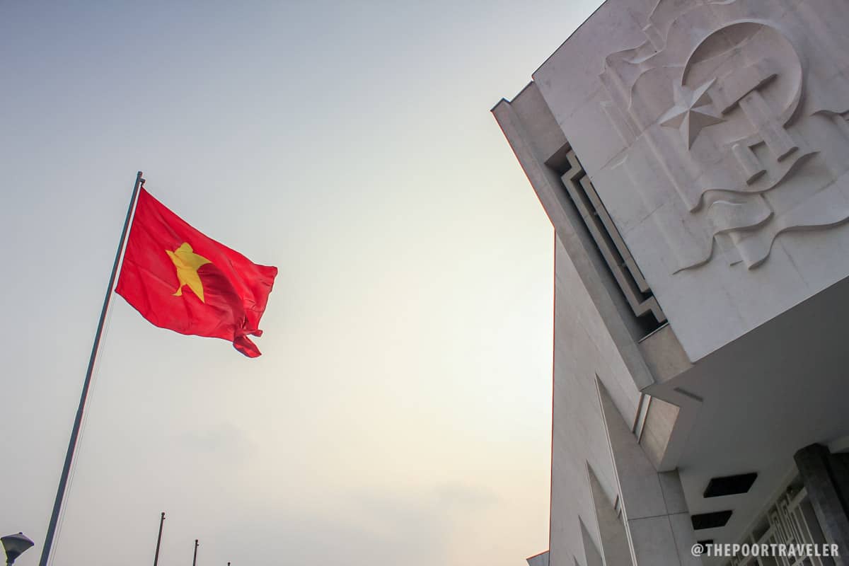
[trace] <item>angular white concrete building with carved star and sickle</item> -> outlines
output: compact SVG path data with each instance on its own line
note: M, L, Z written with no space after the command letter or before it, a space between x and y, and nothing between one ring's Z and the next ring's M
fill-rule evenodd
M847 0L608 0L492 110L557 234L532 563L849 564L847 30Z

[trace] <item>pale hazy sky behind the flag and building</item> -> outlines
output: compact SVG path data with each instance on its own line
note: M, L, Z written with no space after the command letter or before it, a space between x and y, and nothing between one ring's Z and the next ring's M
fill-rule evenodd
M553 230L489 109L598 0L0 3L0 535L37 546L136 171L279 275L250 360L115 296L57 566L548 548Z

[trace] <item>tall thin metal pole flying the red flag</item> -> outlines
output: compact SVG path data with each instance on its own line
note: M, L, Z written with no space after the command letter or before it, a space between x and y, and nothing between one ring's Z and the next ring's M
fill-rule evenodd
M121 232L121 241L118 243L118 250L115 252L115 262L112 264L112 274L109 278L109 286L106 288L106 297L104 305L100 311L100 321L98 322L98 330L94 333L94 344L92 345L92 355L88 358L88 369L86 379L82 382L82 395L80 395L80 406L76 409L76 418L74 419L74 428L70 431L70 440L68 442L68 452L65 454L65 465L62 467L62 476L59 478L59 488L56 490L56 501L53 502L53 514L50 515L50 524L48 524L47 535L44 535L44 546L42 548L42 558L38 561L38 566L48 566L48 558L50 558L50 548L53 546L53 535L56 534L56 524L59 522L59 512L62 510L62 501L65 499L65 488L68 485L68 475L70 474L70 464L74 459L74 451L76 449L76 440L80 435L80 425L82 424L82 412L86 408L86 398L88 396L88 387L92 383L92 373L94 370L94 361L98 356L98 348L100 346L100 338L103 335L104 322L106 320L106 312L109 311L110 300L112 299L112 289L115 287L115 277L118 273L118 266L121 263L121 252L124 249L124 243L127 241L127 231L130 228L130 219L132 217L132 209L136 205L138 199L138 189L144 185L142 171L138 171L136 175L136 184L132 188L132 197L130 198L130 206L127 208L127 218L124 220L124 229Z

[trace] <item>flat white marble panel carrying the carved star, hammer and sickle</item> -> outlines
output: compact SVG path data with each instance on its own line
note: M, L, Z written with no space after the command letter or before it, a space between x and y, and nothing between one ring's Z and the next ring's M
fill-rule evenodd
M608 0L534 74L691 361L849 275L846 29L846 0Z

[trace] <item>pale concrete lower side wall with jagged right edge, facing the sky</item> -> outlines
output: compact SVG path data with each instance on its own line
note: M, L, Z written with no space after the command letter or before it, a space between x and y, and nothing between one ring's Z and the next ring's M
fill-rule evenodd
M578 563L589 566L585 557L593 557L603 548L589 469L598 478L611 506L618 496L596 378L615 388L615 395L627 404L629 410L621 414L623 423L633 423L639 394L559 238L555 258L549 545L552 566L571 566L573 556ZM586 548L581 524L592 538L594 549Z

